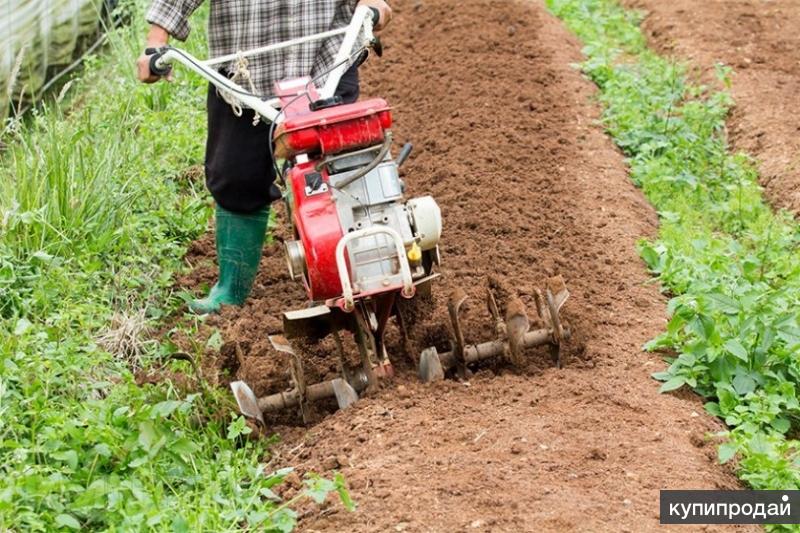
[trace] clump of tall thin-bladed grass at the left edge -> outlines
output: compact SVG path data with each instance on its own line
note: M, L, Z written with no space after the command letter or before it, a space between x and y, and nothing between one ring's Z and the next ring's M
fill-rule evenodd
M0 181L4 240L28 253L109 249L138 194L131 179L110 179L131 166L132 139L98 142L92 124L65 132L74 122L57 105L36 120L41 133L18 136Z

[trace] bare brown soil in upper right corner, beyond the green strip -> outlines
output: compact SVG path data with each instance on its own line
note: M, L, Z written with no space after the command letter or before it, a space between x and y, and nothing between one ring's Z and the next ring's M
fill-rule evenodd
M662 52L734 68L733 145L758 160L767 197L800 211L800 10L796 0L626 0Z

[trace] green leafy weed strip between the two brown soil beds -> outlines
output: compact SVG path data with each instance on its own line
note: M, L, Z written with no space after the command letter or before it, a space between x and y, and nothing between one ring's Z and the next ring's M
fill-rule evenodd
M585 43L603 123L655 206L660 232L640 251L674 297L651 350L676 353L654 375L688 386L729 426L719 448L755 489L800 488L800 228L765 204L749 158L730 153L720 89L648 49L640 14L614 0L548 0Z

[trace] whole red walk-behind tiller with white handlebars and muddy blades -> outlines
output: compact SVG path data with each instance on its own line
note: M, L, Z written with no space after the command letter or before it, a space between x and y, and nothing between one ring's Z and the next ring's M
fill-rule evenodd
M379 48L372 34L372 13L356 9L345 28L199 61L188 53L166 47L156 50L151 70L166 73L179 61L214 83L223 94L254 109L274 127L274 155L285 161L282 171L284 199L294 238L286 241L289 273L302 282L308 305L283 315L283 335L272 336L273 347L290 355L291 386L285 392L256 398L242 381L231 384L243 414L264 421L263 413L297 408L305 419L310 402L335 398L340 408L358 399L359 393L377 387L380 378L393 374L384 347L387 324L395 318L407 341L402 302L430 292L434 271L440 263L441 213L430 196L406 199L405 184L398 173L411 152L406 144L392 158L392 112L380 98L342 104L334 97L339 79L349 63L367 49ZM314 39L344 35L342 45L321 88L315 80L300 78L276 84L275 97L263 100L219 74L213 65L268 53ZM551 280L545 294L537 292L542 329L529 331L521 302L507 306L505 320L489 293L489 309L495 320L497 340L465 345L459 308L464 297L450 302L453 338L450 351L435 348L419 357L424 381L444 377L454 369L464 377L467 366L482 359L505 356L517 362L525 347L549 344L558 359L558 347L568 338L559 310L568 293L560 279ZM359 364L348 364L340 333L352 333ZM303 370L305 341L331 336L339 352L340 376L322 383L306 383ZM295 340L304 339L297 343ZM408 343L406 342L406 345Z

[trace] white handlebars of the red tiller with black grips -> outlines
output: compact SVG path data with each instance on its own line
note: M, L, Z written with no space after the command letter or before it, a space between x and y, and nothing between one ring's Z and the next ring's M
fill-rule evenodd
M284 41L282 43L263 46L253 50L220 56L206 61L199 60L185 50L181 50L180 48L175 48L173 46L164 46L157 49L148 48L145 50L145 54L150 56L149 66L150 72L153 75L161 77L166 76L172 70L172 63L177 61L194 71L196 74L199 74L203 78L207 79L218 89L233 93L237 100L247 107L254 109L255 112L265 120L269 122L280 122L282 116L276 109L279 105L279 100L277 98L264 99L256 94L250 93L237 83L222 75L219 71L213 68L213 65L226 63L239 57L249 57L267 52L274 52L290 46L328 39L337 35L344 35L342 45L339 47L339 51L336 53L336 56L333 60L333 64L336 65L336 67L333 68L328 74L328 78L325 81L324 86L319 88L319 95L321 99L330 98L336 92L336 88L339 85L339 80L347 70L347 59L353 54L353 50L357 49L357 45L370 48L375 46L376 39L372 34L372 28L379 19L380 12L377 9L368 6L358 6L353 13L353 18L350 20L350 24L345 27L309 35L307 37L301 37L299 39ZM364 39L361 42L358 42L358 37L362 30L364 31Z

